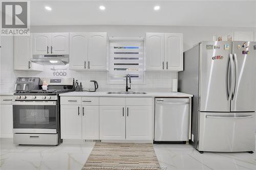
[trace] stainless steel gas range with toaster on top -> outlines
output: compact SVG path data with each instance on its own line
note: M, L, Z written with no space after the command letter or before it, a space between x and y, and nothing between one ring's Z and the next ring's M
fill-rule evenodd
M42 84L48 90L42 90ZM50 144L60 138L60 93L74 91L73 78L18 78L13 94L13 142Z

